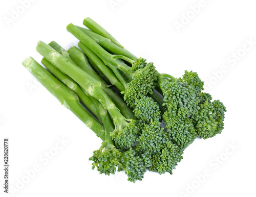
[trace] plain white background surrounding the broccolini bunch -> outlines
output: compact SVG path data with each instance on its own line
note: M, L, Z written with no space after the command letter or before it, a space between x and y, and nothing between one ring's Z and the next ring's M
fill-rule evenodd
M37 0L23 9L20 1L1 1L0 149L8 137L9 183L16 188L15 196L255 194L256 4L253 0L199 2ZM195 13L191 6L198 5ZM17 9L20 14L15 18L12 13ZM187 15L190 19L185 19ZM196 139L173 175L147 171L143 181L134 184L124 173L108 177L92 170L88 158L100 146L100 139L22 66L27 56L40 62L35 51L39 40L55 40L66 49L75 45L66 26L70 22L82 26L87 16L133 54L153 61L159 72L180 77L185 69L197 71L208 84L207 91L225 104L222 134ZM7 17L13 17L9 26ZM250 40L251 47L246 44ZM47 163L46 152L54 153L62 138L68 142ZM28 179L26 170L31 172L35 165L40 170ZM207 169L209 176L203 179ZM2 175L3 170L3 186ZM196 176L202 178L201 183ZM2 186L0 196L11 195Z

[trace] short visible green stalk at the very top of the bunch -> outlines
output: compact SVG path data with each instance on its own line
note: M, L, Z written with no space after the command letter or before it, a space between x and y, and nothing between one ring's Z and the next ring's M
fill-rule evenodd
M111 42L116 44L117 46L124 48L112 35L110 35L109 32L104 30L97 22L95 22L90 17L84 18L83 25L88 27L93 32L95 32L105 38L109 38L111 40Z

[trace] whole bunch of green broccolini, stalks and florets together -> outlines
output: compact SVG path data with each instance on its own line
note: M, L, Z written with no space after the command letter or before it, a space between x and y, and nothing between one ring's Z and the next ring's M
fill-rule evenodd
M89 158L93 169L105 175L123 170L131 182L147 170L173 174L197 137L222 132L226 108L202 92L197 72L159 73L91 18L83 24L89 29L67 26L80 49L39 41L47 69L31 57L23 65L102 140Z

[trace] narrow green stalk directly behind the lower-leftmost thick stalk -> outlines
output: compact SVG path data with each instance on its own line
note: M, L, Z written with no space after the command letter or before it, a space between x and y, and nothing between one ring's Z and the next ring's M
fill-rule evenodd
M96 106L90 98L91 96L85 94L80 86L73 79L61 72L47 59L42 58L41 63L44 64L45 67L52 73L52 75L54 75L60 82L73 90L78 95L79 100L84 104L84 106L86 106L99 119L99 121L102 122L99 111L97 110Z

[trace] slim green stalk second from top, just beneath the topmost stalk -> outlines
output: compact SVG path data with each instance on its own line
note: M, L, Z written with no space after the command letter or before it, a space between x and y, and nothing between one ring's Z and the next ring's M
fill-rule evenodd
M131 54L129 51L127 51L124 48L121 48L121 47L117 46L116 44L114 44L113 42L111 42L110 39L105 38L93 31L88 30L88 29L85 29L85 28L82 28L79 26L76 26L76 27L78 27L84 34L86 34L90 38L92 38L95 42L97 42L100 46L102 46L106 51L108 51L112 54L116 54L116 55L123 55L132 60L138 59L136 56Z

